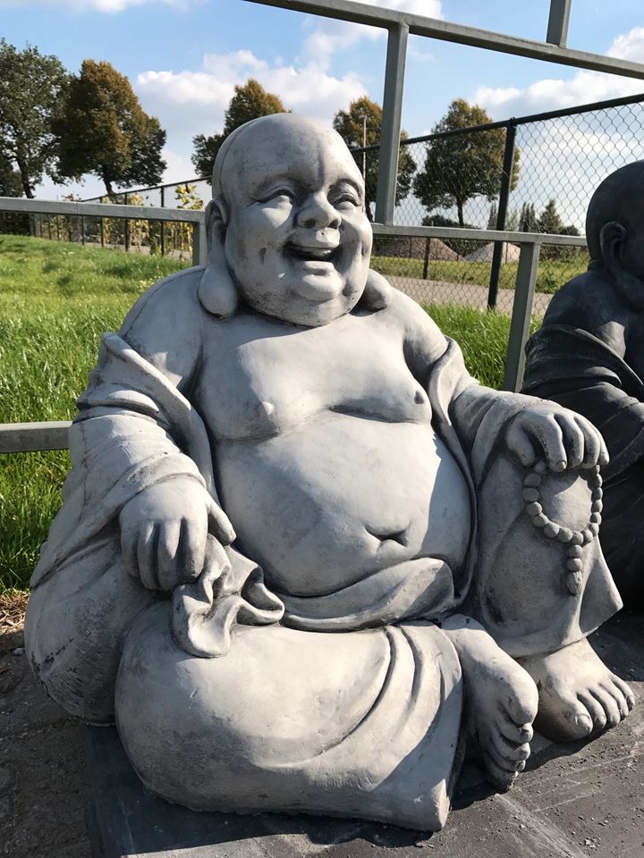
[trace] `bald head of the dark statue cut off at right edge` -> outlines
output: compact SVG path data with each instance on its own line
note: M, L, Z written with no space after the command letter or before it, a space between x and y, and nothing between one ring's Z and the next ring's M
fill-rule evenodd
M627 240L644 240L644 161L612 172L590 198L586 240L592 259L602 259L601 233L609 223L623 227Z

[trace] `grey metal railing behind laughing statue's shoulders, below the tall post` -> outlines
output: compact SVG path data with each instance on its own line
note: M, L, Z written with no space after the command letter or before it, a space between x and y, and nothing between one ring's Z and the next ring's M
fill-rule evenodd
M183 209L135 208L134 206L112 206L106 204L53 202L0 197L0 212L22 212L26 214L64 214L72 217L97 216L102 213L114 218L131 218L132 214L150 220L181 221L192 224L194 235L193 262L203 265L207 258L206 224L203 211ZM422 240L462 239L484 241L510 241L521 248L514 284L513 314L505 361L504 390L518 391L523 376L523 346L530 327L530 315L535 297L538 257L543 246L561 248L583 248L585 240L578 236L549 235L502 230L462 230L450 227L417 226L400 227L373 225L374 235L386 239L392 236L407 236ZM0 424L0 453L28 452L32 450L63 450L67 447L69 421L45 423Z

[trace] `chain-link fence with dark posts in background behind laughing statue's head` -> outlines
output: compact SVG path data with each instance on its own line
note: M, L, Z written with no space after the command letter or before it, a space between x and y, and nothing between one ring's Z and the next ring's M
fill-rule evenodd
M352 152L373 214L378 147ZM644 95L402 140L394 224L583 236L599 182L641 158ZM209 198L208 181L192 179L123 192L111 201L200 209ZM107 198L85 200L98 201ZM185 223L38 215L38 234L191 258ZM509 313L519 253L515 242L495 247L487 240L377 236L372 265L421 302L481 308L489 302ZM543 312L550 296L587 265L585 248L544 245L535 311Z

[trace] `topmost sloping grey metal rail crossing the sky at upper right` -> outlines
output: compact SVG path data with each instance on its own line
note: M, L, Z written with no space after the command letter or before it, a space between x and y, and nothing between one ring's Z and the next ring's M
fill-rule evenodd
M455 42L458 45L481 47L488 51L545 60L547 63L572 65L578 69L605 71L607 74L619 74L627 78L644 80L642 63L631 63L614 56L575 51L569 47L550 45L530 38L507 36L489 29L465 27L462 24L438 21L436 18L427 18L424 15L367 6L356 3L354 0L247 0L247 2L275 6L277 9L291 9L293 12L321 15L340 21L353 21L358 24L367 24L369 27L393 29L402 25L409 27L410 34L413 36L427 36L446 42Z

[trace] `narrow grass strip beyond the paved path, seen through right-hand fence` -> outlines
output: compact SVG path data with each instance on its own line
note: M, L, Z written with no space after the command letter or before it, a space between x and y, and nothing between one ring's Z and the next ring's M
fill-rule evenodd
M571 259L542 258L538 265L538 292L549 294L558 290L563 283L583 273L588 267L588 254L582 254ZM501 265L499 274L500 289L514 289L518 263L507 262ZM411 277L421 280L423 260L407 257L371 257L371 267L385 276ZM447 283L468 283L473 286L489 286L491 263L463 262L461 260L432 260L428 264L428 280Z

